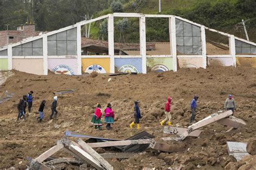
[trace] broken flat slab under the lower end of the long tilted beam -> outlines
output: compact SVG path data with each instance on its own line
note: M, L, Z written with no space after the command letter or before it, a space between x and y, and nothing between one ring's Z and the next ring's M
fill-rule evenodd
M171 127L165 126L164 127L164 133L177 134L177 135L183 134L187 130L188 130L187 128L178 128L178 127L173 127L173 126L171 126ZM199 137L201 132L203 132L203 131L195 130L195 131L192 131L190 134L188 134L188 136Z

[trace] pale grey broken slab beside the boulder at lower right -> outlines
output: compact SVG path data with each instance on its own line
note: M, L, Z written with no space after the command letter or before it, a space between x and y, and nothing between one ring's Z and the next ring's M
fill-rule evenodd
M247 143L227 141L227 150L229 155L233 155L237 161L248 155L246 151Z

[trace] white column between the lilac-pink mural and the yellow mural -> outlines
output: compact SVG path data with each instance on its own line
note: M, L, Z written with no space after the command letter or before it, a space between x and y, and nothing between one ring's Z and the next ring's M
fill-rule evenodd
M77 75L82 75L81 24L77 23Z

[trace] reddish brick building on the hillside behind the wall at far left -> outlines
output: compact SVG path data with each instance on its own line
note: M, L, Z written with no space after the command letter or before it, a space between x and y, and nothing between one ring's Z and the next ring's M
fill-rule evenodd
M0 47L38 36L40 33L41 31L35 31L35 24L18 25L17 30L0 31Z

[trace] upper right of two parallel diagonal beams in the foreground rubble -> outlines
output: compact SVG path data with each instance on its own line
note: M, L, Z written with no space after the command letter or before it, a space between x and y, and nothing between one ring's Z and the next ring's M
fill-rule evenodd
M86 144L82 139L78 139L78 144L82 146L83 150L89 153L94 159L100 162L100 164L106 169L114 169L112 165L109 164L100 154L98 154L93 148Z

